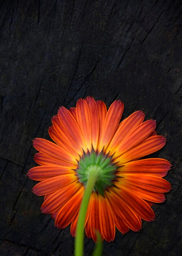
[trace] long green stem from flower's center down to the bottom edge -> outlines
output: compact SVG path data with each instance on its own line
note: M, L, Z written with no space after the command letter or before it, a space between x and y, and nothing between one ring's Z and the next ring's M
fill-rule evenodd
M82 203L81 203L77 227L76 227L75 256L83 256L85 218L87 214L87 208L89 205L91 193L93 191L93 187L95 185L95 182L97 181L99 173L100 173L99 167L89 166L88 181L87 181L85 192L82 198Z

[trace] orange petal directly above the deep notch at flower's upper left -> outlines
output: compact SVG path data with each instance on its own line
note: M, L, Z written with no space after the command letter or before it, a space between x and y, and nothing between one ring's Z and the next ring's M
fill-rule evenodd
M78 153L71 147L69 144L67 144L56 132L54 126L49 127L49 135L53 141L55 141L56 144L58 144L61 148L64 148L70 155L73 155L75 159L79 160L80 157Z

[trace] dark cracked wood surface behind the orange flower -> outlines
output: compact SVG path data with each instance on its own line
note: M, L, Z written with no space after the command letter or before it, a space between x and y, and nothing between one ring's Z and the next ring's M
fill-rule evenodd
M73 255L70 227L40 212L26 176L32 139L49 139L51 117L91 95L124 117L143 110L166 146L152 157L173 164L172 190L155 221L104 242L106 256L176 256L182 251L181 0L6 0L0 3L0 255ZM85 255L94 243L85 238Z

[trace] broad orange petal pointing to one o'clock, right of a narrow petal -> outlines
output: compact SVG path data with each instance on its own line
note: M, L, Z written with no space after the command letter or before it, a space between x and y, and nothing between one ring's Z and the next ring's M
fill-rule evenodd
M118 128L122 112L124 110L124 104L121 101L114 101L105 118L104 121L104 128L102 130L101 140L100 140L100 147L107 148L111 139L113 138L115 131Z

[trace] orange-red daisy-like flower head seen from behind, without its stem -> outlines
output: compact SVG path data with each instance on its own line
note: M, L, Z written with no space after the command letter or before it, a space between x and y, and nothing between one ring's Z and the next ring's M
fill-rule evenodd
M40 152L28 176L41 181L33 187L36 195L45 195L43 213L51 213L58 228L71 223L75 236L78 212L87 184L87 173L99 169L87 217L85 231L96 241L95 230L110 242L115 227L123 234L141 229L141 219L151 221L153 202L164 202L171 189L162 179L171 164L165 159L140 159L164 146L166 139L156 135L156 123L144 121L136 111L120 123L124 105L114 101L107 111L103 101L92 97L79 99L76 108L61 107L52 118L49 135L55 143L37 138L33 146ZM140 160L139 160L140 159Z

